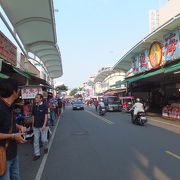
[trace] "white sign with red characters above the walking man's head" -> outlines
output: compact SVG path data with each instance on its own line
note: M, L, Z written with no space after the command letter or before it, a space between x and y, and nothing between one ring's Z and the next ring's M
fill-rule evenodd
M21 89L22 99L34 99L36 94L43 94L42 88L25 87Z

